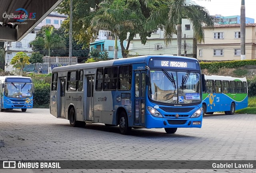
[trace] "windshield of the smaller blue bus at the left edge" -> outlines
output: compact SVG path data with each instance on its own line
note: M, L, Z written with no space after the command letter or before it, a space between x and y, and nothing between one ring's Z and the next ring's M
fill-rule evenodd
M5 96L12 98L28 98L32 96L32 84L6 83Z

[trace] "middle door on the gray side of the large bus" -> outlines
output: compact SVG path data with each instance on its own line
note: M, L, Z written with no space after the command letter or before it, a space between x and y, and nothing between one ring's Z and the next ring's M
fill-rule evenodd
M87 75L86 120L93 121L94 75Z

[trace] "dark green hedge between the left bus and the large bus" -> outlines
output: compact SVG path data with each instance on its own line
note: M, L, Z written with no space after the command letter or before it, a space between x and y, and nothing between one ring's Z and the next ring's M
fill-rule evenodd
M34 105L46 106L50 103L50 83L34 83Z

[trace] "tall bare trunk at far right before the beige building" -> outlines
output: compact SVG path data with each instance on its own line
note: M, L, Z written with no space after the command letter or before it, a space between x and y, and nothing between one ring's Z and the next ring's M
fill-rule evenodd
M245 59L245 4L244 0L241 0L241 24L240 24L240 34L241 34L241 60Z

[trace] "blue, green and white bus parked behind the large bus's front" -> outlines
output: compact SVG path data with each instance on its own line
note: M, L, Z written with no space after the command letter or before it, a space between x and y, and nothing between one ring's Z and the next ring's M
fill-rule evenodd
M203 92L203 115L224 111L233 115L235 110L248 107L246 78L205 75L206 90Z

